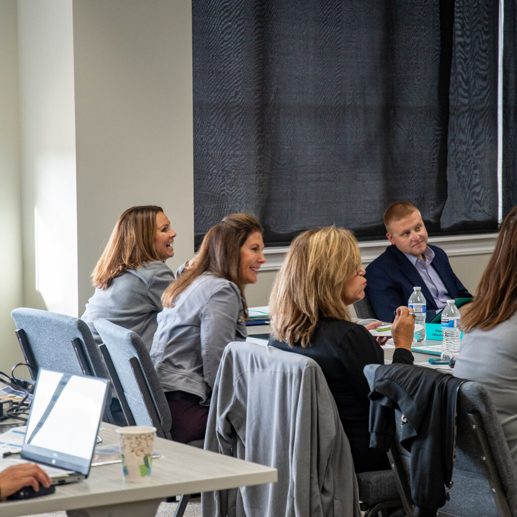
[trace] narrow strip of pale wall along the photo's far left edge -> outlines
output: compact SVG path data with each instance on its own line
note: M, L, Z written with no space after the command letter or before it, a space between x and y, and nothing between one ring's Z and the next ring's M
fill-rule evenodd
M22 222L16 0L0 2L0 371L22 360L10 312L22 304Z

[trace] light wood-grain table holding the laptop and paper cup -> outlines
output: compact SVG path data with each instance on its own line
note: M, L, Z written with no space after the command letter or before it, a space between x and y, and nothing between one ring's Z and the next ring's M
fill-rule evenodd
M116 444L105 422L103 444ZM2 517L66 510L70 517L154 517L164 497L277 481L277 469L155 438L153 473L145 483L125 483L120 463L90 469L87 479L56 486L51 495L0 503Z

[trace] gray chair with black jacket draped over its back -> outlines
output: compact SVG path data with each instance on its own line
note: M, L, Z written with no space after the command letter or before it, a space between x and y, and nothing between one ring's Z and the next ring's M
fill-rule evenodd
M377 364L364 367L373 388ZM460 386L457 401L456 460L450 500L438 515L459 517L516 517L517 471L488 391L468 381ZM400 446L401 413L396 412L397 439L389 458L408 517L414 503L409 488L410 454Z

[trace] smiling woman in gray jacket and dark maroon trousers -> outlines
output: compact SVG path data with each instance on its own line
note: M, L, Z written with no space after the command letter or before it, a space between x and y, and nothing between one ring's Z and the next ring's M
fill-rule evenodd
M203 439L224 347L245 341L246 284L265 262L262 226L231 214L205 235L195 261L162 296L151 359L173 416L172 439Z

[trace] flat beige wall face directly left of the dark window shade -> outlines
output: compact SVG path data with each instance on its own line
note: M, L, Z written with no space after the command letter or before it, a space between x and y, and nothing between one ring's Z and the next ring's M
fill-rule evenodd
M74 0L79 314L130 206L163 207L175 269L194 249L190 0Z

